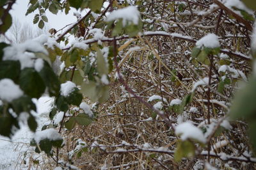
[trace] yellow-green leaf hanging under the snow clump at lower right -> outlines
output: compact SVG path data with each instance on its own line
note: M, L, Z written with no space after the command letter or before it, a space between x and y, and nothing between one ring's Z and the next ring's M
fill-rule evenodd
M193 157L195 155L195 145L190 141L178 141L174 153L174 160L179 162L184 157Z

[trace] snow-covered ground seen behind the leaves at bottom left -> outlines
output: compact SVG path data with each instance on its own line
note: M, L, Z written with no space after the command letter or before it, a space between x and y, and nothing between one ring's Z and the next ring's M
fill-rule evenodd
M41 97L38 100L33 100L37 107L37 121L38 129L40 129L45 121L48 121L47 115L51 109L52 98ZM33 133L26 125L22 125L20 130L13 136L12 142L8 137L0 135L0 169L13 170L21 169L19 167L20 161L25 151L28 150L30 140Z

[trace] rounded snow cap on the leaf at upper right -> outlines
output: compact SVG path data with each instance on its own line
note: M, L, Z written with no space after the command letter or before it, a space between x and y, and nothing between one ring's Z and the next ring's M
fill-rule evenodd
M202 46L208 47L211 49L220 47L220 42L218 40L218 36L216 36L212 33L204 36L203 38L201 38L200 40L198 40L196 42L196 47L200 48Z

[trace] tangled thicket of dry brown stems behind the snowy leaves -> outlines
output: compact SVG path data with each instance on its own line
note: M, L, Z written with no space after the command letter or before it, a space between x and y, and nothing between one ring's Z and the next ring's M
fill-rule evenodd
M129 40L129 45L118 52L118 58L125 59L118 65L124 84L118 81L115 72L111 73L110 98L95 109L97 119L88 127L77 126L65 132L64 158L68 151L74 150L76 140L81 139L86 143L86 150L76 150L72 161L82 169L203 169L207 157L212 166L220 169L255 168L255 160L250 160L251 145L244 121L230 122L232 128L212 137L202 148L205 152L196 150L192 158L175 162L173 154L178 138L173 128L140 101L147 102L149 97L159 95L161 98L150 104L161 102L160 109L173 126L181 120L193 121L195 125L207 124L208 114L212 120L220 120L227 114L237 83L243 77L241 74L232 76L232 71L223 74L218 69L229 65L245 75L250 73L251 59L246 56L250 56L252 29L232 18L221 6L212 7L212 4L212 1L145 1L138 6L139 10L144 9L141 13L143 30L179 33L192 38L155 32ZM170 109L169 103L173 99L182 100L195 82L209 77L210 65L191 58L196 40L209 33L218 35L221 42L220 54L212 56L211 60L210 92L207 92L208 86L198 88L193 101L179 114ZM120 40L118 47L127 42ZM230 83L219 92L223 75L229 77ZM208 99L212 101L210 104ZM209 155L207 147L211 151Z

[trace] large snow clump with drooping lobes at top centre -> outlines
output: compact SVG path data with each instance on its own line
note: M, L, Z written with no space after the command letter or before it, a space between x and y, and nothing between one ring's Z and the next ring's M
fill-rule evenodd
M137 10L136 6L128 6L111 12L106 21L110 22L117 19L123 19L123 26L126 26L127 22L132 22L137 25L140 20L140 12Z

